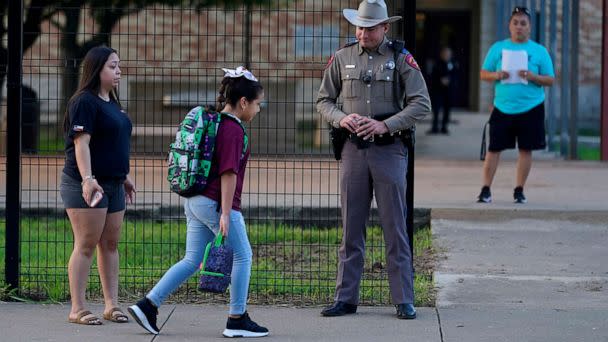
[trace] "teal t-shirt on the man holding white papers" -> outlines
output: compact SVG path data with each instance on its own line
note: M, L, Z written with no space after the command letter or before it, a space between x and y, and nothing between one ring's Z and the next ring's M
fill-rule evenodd
M491 72L500 71L503 50L525 50L528 53L529 71L538 75L555 77L553 63L547 49L531 40L525 43L514 43L511 39L505 39L494 43L481 68ZM503 84L496 81L494 86L494 106L505 114L525 113L545 101L545 90L534 82Z

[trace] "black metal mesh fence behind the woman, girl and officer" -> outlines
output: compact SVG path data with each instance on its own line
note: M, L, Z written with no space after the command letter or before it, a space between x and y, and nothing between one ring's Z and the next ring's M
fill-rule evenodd
M121 294L148 290L183 255L185 219L182 200L166 184L167 147L189 108L214 102L220 68L246 65L266 94L264 108L249 128L252 159L243 198L254 249L251 298L329 301L341 237L338 163L331 158L327 127L314 101L327 59L354 34L341 10L356 8L358 2L279 1L228 9L26 3L19 292L56 300L68 296L72 232L58 192L60 123L84 54L105 43L121 58L119 96L133 122L131 175L138 188L120 242ZM389 7L395 9L390 2ZM29 15L39 15L39 31L27 24ZM394 31L400 35L402 29ZM2 38L7 46L6 35ZM2 156L6 133L3 124ZM7 188L10 167L3 157L1 191ZM7 193L0 201L4 208ZM6 252L5 226L0 222L0 258ZM363 303L388 302L386 273L377 267L383 262L381 232L371 229ZM0 266L4 272L5 264ZM199 298L195 282L192 278L174 299ZM89 290L92 296L100 294L96 272Z

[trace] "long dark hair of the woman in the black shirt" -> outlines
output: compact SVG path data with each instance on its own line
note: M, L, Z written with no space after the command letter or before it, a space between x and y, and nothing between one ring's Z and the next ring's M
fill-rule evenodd
M99 88L101 87L101 80L99 73L103 70L104 65L110 58L111 54L118 54L118 52L107 46L97 46L89 50L82 62L82 76L80 77L80 83L78 84L78 90L70 97L68 104L65 109L65 115L63 117L63 129L67 133L70 130L70 107L72 103L83 93L90 92L97 96L99 94ZM112 90L110 92L110 101L116 102L120 106L118 100L118 94ZM120 106L122 108L122 106Z

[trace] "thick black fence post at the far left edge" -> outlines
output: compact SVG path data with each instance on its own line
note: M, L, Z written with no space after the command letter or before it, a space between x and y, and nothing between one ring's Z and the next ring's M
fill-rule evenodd
M8 73L6 82L6 283L19 288L21 221L21 81L23 77L23 0L8 3Z

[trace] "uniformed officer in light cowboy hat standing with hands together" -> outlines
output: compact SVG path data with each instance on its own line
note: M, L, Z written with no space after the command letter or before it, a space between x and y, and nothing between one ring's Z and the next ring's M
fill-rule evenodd
M402 47L395 53L399 44L386 37L389 24L401 17L389 18L383 0L364 0L358 10L343 13L356 26L357 42L330 59L317 97L323 118L349 135L341 154L343 236L335 301L321 314L342 316L357 311L365 223L375 193L391 300L398 318L414 319L412 256L405 226L407 148L401 135L431 111L429 95L412 55ZM338 97L341 108L336 105Z

